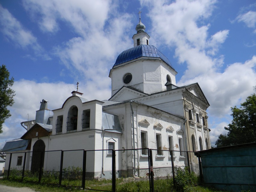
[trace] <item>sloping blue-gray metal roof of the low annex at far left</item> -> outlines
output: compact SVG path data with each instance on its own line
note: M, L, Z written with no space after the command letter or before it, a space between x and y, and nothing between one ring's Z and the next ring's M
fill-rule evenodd
M18 139L15 141L8 141L5 143L5 146L2 149L2 151L9 152L9 151L26 150L29 142L30 142L30 140L23 140L23 139Z

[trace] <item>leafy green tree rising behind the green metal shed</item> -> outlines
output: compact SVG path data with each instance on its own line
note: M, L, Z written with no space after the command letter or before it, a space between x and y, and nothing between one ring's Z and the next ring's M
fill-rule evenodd
M226 135L220 134L215 145L217 147L256 142L256 95L246 98L240 108L231 107L233 117Z

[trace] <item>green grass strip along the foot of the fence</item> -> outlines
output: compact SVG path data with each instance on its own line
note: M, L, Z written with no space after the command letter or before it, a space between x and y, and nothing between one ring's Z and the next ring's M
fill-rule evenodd
M95 190L86 191L96 191L98 190L112 190L111 180L90 180L86 181L86 187L91 187ZM79 187L59 187L58 185L51 184L36 184L31 182L17 182L9 181L6 179L0 179L0 184L12 186L12 187L29 187L35 191L39 192L67 192L67 191L84 191ZM155 192L170 192L174 191L172 186L172 179L156 179L155 182ZM169 187L167 187L169 186ZM116 180L116 191L117 192L144 192L149 191L148 181L135 181L134 179L117 179ZM223 192L221 190L210 189L202 186L190 187L187 192Z

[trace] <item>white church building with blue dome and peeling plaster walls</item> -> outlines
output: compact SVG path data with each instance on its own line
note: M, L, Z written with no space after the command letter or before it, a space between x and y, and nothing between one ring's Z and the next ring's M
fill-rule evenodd
M6 169L8 153L13 152L105 150L93 153L91 160L86 161L87 172L99 178L111 164L112 149L156 149L153 159L157 168L170 166L169 150L210 148L206 112L209 103L198 83L176 86L177 72L168 58L149 44L150 37L141 19L136 31L134 47L120 53L110 70L111 98L88 101L77 89L59 109L52 110L53 116L49 116L48 101L42 100L36 119L21 122L27 132L19 140L5 144L2 151L7 153ZM12 155L11 167L22 167L25 157L21 154ZM26 168L36 170L39 157L32 154L26 157ZM118 154L117 159L121 158ZM145 176L147 157L147 150L127 152L116 166L121 170L136 169L132 173L138 176L139 167L141 176ZM182 161L183 156L180 153L175 158ZM197 159L192 153L189 159L191 169L196 170ZM49 153L44 156L43 166L59 168Z

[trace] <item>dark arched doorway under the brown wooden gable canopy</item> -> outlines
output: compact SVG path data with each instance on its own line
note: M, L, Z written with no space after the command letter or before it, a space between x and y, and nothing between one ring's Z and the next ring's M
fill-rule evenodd
M44 156L45 156L45 143L39 139L33 146L31 171L38 172L40 169L40 163L42 159L42 167L44 166Z

